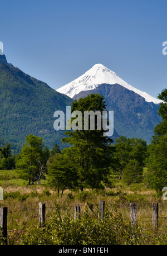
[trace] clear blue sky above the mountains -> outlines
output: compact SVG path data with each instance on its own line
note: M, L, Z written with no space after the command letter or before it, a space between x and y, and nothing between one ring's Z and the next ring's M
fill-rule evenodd
M167 84L167 1L0 0L9 63L57 89L101 63L155 98Z

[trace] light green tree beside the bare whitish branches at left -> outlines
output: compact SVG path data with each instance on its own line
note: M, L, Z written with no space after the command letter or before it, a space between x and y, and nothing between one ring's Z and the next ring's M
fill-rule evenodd
M48 157L49 150L44 148L40 137L31 134L26 136L26 143L16 158L19 177L28 181L29 185L31 182L39 183L40 179L45 178Z

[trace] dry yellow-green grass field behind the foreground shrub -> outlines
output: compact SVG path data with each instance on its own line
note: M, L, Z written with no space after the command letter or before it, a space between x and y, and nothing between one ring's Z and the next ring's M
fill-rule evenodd
M85 189L83 192L66 190L62 196L57 197L57 192L47 187L46 181L41 181L38 186L28 186L27 182L17 178L16 170L0 170L0 187L3 188L4 197L0 201L0 206L8 207L8 235L13 244L19 243L17 238L19 233L27 227L38 225L39 202L46 203L46 221L53 216L55 203L60 206L62 216L66 214L66 208L70 208L72 217L74 204L79 203L82 217L85 207L92 211L99 206L99 201L105 201L105 205L116 206L125 222L130 222L130 202L136 202L137 223L144 230L149 230L150 240L153 236L153 203L158 202L159 237L166 233L167 202L162 196L158 197L145 183L126 186L123 181L115 177L113 188L98 191Z

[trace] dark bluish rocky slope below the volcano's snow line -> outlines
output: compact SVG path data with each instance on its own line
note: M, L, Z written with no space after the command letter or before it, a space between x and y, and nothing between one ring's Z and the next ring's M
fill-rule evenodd
M114 110L114 128L119 135L150 142L154 126L160 122L159 105L146 102L144 97L120 84L101 84L92 90L81 91L73 99L78 100L90 93L103 95L107 110Z

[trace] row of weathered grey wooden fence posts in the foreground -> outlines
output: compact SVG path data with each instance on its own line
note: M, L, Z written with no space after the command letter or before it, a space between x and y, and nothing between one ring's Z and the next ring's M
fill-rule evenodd
M102 220L104 217L104 210L105 210L105 201L99 201L100 206L100 219ZM77 203L74 204L74 219L81 218L81 208L80 205ZM0 227L2 229L2 236L6 240L7 244L7 215L8 215L8 208L7 207L0 207ZM136 217L137 217L137 206L136 202L130 203L130 220L131 225L134 226L136 224ZM40 202L39 203L39 223L42 227L45 224L46 219L46 204ZM158 203L153 203L153 228L156 230L158 229Z

